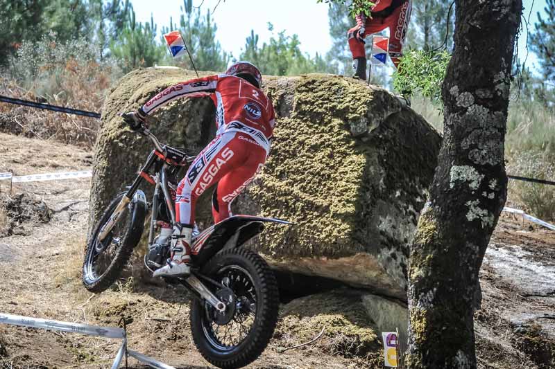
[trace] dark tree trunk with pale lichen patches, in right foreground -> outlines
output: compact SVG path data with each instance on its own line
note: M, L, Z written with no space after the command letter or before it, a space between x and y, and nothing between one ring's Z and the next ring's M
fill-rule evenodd
M457 0L444 141L409 264L406 368L476 368L478 272L506 199L504 136L522 0Z

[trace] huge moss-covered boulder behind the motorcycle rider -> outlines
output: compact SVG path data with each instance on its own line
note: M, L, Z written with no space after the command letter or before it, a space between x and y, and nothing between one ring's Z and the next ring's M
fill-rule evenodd
M93 220L151 150L117 114L193 77L181 69L139 69L112 91L94 156ZM266 77L263 88L278 118L275 140L262 174L234 202L234 212L295 226L268 226L253 247L282 271L406 298L408 245L441 136L388 91L350 78ZM175 147L198 151L214 136L209 98L176 100L153 118L153 132ZM211 222L209 207L208 201L198 204L201 226Z

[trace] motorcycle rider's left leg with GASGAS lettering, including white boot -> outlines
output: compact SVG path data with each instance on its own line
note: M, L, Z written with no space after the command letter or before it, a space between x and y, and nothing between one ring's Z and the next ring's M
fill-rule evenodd
M232 146L235 132L216 136L198 154L180 181L176 197L176 224L171 236L171 260L157 269L153 276L185 276L189 274L191 238L195 219L196 200L226 173L244 162L244 153Z

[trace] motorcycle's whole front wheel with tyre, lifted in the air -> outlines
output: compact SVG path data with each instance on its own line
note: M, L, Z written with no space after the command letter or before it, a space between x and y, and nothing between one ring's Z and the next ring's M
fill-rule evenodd
M146 209L140 203L131 202L123 210L108 236L102 242L99 240L101 228L108 222L123 195L125 192L110 202L94 226L87 244L83 262L83 285L91 292L105 291L119 278L144 231Z

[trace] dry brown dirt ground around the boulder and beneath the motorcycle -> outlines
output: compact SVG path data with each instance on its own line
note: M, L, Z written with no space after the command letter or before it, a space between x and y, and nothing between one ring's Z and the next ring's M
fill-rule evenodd
M0 172L24 175L91 165L92 154L77 147L0 134ZM0 312L105 326L126 316L132 318L131 349L176 368L212 368L189 334L189 298L182 287L139 284L133 276L140 273L133 269L132 277L103 294L82 287L88 198L88 179L19 183L11 195L8 183L0 181ZM14 221L17 204L27 213ZM502 217L484 259L481 286L482 309L475 314L480 368L549 368L555 348L555 233ZM309 336L319 330L301 328ZM276 335L248 368L382 367L369 363L376 362L379 350L366 359L321 345L280 352L293 341L283 332ZM0 325L0 368L107 368L118 343ZM129 364L142 368L133 359Z

